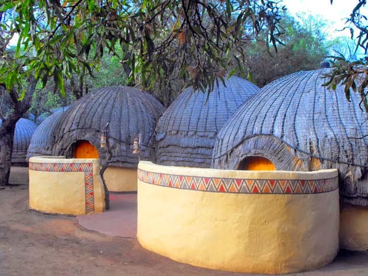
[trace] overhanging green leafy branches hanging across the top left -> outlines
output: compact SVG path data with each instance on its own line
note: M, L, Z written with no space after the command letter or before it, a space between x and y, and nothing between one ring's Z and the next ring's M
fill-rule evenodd
M283 9L266 0L1 0L0 46L15 34L18 40L0 82L10 89L33 74L43 86L52 79L62 94L68 80L78 94L107 51L129 85L162 96L180 80L204 91L260 32L276 47Z

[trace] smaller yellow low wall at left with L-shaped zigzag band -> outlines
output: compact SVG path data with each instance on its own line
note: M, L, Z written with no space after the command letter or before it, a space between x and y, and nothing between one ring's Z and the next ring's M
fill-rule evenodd
M105 191L99 172L98 159L31 157L30 209L66 215L105 211Z

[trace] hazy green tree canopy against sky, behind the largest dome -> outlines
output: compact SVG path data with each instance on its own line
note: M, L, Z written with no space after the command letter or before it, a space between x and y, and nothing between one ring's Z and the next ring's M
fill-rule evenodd
M245 45L244 66L259 87L297 71L315 70L332 53L331 49L344 46L340 40L328 37L330 26L323 18L306 14L299 17L298 20L283 13L280 20L283 44L278 51L270 48L262 34Z

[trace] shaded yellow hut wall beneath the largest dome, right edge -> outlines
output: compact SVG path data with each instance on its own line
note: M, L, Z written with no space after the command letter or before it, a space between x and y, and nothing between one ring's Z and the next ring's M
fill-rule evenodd
M346 205L340 212L340 247L368 250L368 207Z

